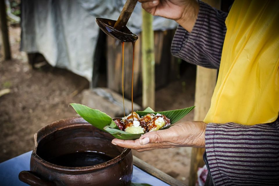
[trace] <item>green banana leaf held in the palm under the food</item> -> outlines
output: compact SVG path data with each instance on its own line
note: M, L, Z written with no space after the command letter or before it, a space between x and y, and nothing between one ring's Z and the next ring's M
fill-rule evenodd
M121 139L121 140L135 140L140 138L141 134L131 134L128 132L125 132L123 130L120 130L118 126L114 123L112 118L108 116L106 113L101 112L100 110L97 109L92 109L90 107L87 107L85 105L81 105L78 103L71 103L70 104L76 112L85 119L88 123L92 124L94 127L99 128L100 130L106 131L110 133L112 136L115 138ZM149 113L154 113L154 114L163 114L167 118L170 119L171 124L176 123L178 120L183 118L185 115L187 115L191 110L194 109L193 107L189 108L184 108L184 109L178 109L178 110L169 110L169 111L162 111L162 112L155 112L152 110L150 107L146 108L144 111L136 111L138 115L141 117L149 114ZM170 125L171 126L171 125ZM161 128L169 128L170 126Z

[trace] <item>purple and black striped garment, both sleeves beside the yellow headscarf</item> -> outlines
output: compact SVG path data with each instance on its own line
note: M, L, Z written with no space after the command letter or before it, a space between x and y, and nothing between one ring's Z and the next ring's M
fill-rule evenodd
M191 33L178 26L171 46L174 56L219 69L227 14L200 1ZM215 185L279 185L279 120L245 126L208 124L205 151Z

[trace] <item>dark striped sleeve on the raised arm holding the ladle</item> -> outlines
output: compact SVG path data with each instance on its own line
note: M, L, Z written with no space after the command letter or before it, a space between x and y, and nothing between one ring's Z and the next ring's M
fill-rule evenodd
M198 18L191 33L178 26L171 53L189 63L219 69L226 35L227 13L200 2Z

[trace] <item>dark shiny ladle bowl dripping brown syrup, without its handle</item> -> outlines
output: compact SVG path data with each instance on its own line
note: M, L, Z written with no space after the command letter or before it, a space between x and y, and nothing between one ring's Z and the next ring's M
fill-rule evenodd
M121 31L113 28L116 22L115 20L96 18L96 22L103 32L112 36L116 40L121 42L135 42L138 39L138 36L132 33L127 26L123 26Z

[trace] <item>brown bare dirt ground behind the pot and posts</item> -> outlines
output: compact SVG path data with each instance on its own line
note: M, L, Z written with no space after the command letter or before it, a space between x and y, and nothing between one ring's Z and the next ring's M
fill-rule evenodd
M88 88L85 78L65 69L49 65L32 69L26 54L19 51L20 28L10 27L9 31L13 59L3 61L0 55L0 90L11 90L0 97L0 162L32 150L33 135L43 126L76 116L68 104L80 103L81 90ZM194 105L195 67L187 66L183 74L179 80L156 91L156 110ZM141 104L141 98L136 98L135 102ZM193 112L190 112L182 120L192 119ZM191 148L133 153L170 176L188 183Z

